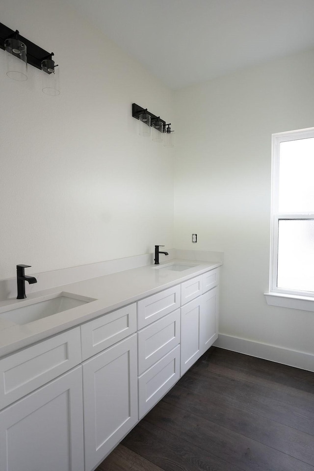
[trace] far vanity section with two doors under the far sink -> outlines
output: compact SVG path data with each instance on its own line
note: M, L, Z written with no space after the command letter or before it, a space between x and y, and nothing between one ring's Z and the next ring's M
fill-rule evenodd
M183 301L194 299L181 307L181 376L218 338L218 270L182 284Z

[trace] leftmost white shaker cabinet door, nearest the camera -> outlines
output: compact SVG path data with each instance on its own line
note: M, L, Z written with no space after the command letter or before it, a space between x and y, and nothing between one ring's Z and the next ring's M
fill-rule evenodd
M0 412L0 471L83 471L81 366Z

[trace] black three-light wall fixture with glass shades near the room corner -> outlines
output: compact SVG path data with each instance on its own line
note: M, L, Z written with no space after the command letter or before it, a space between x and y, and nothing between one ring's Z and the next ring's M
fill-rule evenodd
M132 116L139 121L139 135L142 137L152 136L155 142L163 142L165 147L173 147L173 132L170 125L155 114L147 111L136 103L132 104Z

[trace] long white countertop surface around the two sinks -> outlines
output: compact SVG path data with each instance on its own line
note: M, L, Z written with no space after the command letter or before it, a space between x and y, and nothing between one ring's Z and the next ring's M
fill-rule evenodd
M194 266L184 271L160 270L160 268L157 268L157 266L162 267L174 262ZM145 265L27 294L27 300L44 300L44 297L47 295L67 292L93 298L95 301L24 325L17 325L11 321L1 319L1 313L6 311L8 307L12 309L13 306L22 306L23 304L21 303L25 303L26 300L8 299L1 301L0 357L75 327L99 315L131 304L162 289L182 283L189 278L205 273L220 265L222 265L221 262L171 260L160 265Z

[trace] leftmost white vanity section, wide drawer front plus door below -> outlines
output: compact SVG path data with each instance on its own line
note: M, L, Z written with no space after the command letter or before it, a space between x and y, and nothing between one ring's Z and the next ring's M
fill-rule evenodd
M59 376L80 362L78 334L0 360L2 404L11 403L0 412L0 471L84 470L81 366Z

